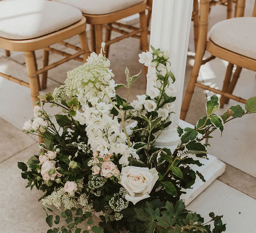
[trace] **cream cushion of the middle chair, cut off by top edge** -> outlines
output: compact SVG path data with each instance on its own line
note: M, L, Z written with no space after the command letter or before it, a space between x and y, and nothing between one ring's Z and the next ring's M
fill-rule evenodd
M103 15L137 5L144 0L53 0L80 9L84 14Z

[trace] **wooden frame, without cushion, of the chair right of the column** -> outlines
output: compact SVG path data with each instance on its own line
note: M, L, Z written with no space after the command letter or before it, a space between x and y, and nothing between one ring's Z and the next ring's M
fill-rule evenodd
M245 0L237 0L236 3L236 17L242 17L244 16L244 8L245 8ZM227 103L227 99L232 99L237 102L245 104L246 100L232 95L233 90L235 88L236 82L239 78L241 67L256 71L256 60L243 56L241 54L237 54L235 52L232 52L230 50L227 50L225 48L222 48L215 44L210 39L207 39L207 33L208 33L208 14L209 14L209 0L201 0L200 1L200 22L199 22L199 38L198 38L198 47L196 50L196 56L195 56L195 63L192 68L192 73L190 76L188 88L186 90L186 94L182 103L181 107L181 115L180 118L182 120L185 120L189 105L194 93L195 87L202 88L204 90L208 90L211 92L214 92L216 94L221 95L220 105L223 107L224 103ZM254 11L253 16L256 16L256 2L254 5ZM211 56L208 59L203 60L203 56L205 51L208 51ZM218 90L215 88L211 88L209 86L206 86L204 84L198 83L197 78L199 74L199 70L201 65L205 64L206 62L214 59L215 57L220 58L222 60L228 61L228 68L226 71L226 75L223 82L223 88L222 90ZM231 80L232 76L232 69L233 66L236 65L237 69L234 73L233 79Z

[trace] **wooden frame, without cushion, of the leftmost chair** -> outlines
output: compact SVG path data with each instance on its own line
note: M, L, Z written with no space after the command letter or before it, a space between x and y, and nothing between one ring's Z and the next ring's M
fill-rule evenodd
M62 42L63 40L71 38L75 35L79 35L82 49L80 49L79 52L73 55L56 50L56 49L52 49L49 47L59 42L63 43ZM22 86L30 88L32 102L33 102L33 105L35 105L36 101L39 101L38 95L40 90L40 82L39 82L40 74L43 74L42 86L43 88L45 88L48 70L54 67L57 67L65 62L68 62L72 59L76 59L81 62L86 61L88 55L90 54L90 51L88 48L87 35L86 35L86 18L82 17L82 19L77 23L74 23L59 31L52 32L47 35L40 36L33 39L11 40L11 39L0 37L0 48L3 48L7 51L24 52L29 82L27 83L23 80L12 77L10 75L6 75L2 72L0 72L0 76L10 81L13 81L15 83L18 83ZM43 59L44 67L41 69L37 68L37 62L35 57L35 51L38 49L44 49L44 59ZM49 51L63 55L65 56L65 58L48 65ZM83 56L83 58L79 58L79 56L81 55Z

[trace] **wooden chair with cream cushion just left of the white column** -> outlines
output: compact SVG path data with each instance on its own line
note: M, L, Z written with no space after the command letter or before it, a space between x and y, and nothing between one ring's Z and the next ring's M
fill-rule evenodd
M106 57L108 57L109 46L115 42L123 40L128 37L135 37L142 41L142 49L145 51L148 49L147 40L147 18L146 18L146 6L147 0L53 0L62 2L80 9L83 16L86 17L86 21L91 25L91 50L96 53L100 52L101 43L105 41ZM140 27L133 27L117 23L116 21L132 16L139 13L140 15ZM113 27L123 27L127 30L121 30ZM105 40L103 40L102 29L106 28ZM111 39L111 31L116 31L122 35ZM137 35L137 34L140 34Z

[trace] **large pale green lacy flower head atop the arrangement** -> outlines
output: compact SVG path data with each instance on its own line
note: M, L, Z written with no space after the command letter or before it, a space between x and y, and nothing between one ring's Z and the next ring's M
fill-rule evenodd
M111 80L114 74L109 70L110 62L102 54L91 53L87 63L67 73L65 84L68 95L77 96L82 105L87 101L98 103L104 97L103 90L109 96L115 96L115 82Z

